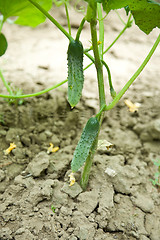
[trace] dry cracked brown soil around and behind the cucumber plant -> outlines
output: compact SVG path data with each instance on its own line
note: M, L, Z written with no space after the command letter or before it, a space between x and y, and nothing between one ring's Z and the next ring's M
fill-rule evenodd
M65 26L64 9L54 10ZM82 15L70 12L74 35ZM112 12L105 22L106 45L122 28ZM48 21L36 29L6 25L4 32L9 48L0 61L13 86L30 93L66 78L68 41ZM88 36L85 25L85 47ZM156 29L146 36L133 25L105 56L116 91L133 75L156 36ZM74 109L67 103L66 85L21 105L0 100L1 240L160 239L160 191L150 181L157 171L153 160L160 159L159 51L106 113L99 138L114 146L97 151L85 192L80 172L72 187L68 175L81 131L98 111L94 68L85 73L83 96ZM1 92L6 93L2 83ZM110 101L108 96L109 91ZM128 111L125 98L141 104L138 112ZM5 155L12 142L16 148ZM50 143L59 151L48 154Z

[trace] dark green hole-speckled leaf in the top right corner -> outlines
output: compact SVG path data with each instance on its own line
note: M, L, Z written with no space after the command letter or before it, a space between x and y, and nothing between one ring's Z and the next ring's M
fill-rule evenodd
M146 34L153 28L160 28L160 3L151 0L102 0L103 9L108 13L112 9L129 6L136 25Z

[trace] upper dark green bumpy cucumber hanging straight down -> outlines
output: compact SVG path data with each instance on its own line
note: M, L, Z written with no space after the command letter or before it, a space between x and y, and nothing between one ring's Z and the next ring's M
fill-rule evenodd
M83 45L73 40L68 46L68 102L73 108L82 95L83 75Z

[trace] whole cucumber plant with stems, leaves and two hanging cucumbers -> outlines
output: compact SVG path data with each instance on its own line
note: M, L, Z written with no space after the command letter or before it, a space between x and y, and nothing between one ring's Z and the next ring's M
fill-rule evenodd
M52 2L54 2L57 6L64 4L66 11L66 21L68 23L68 31L64 29L63 26L57 22L56 19L48 12L52 7ZM86 10L83 12L84 17L79 24L76 38L74 39L71 34L71 24L68 10L68 5L70 4L69 0L0 0L1 56L5 54L8 46L7 39L4 33L2 33L2 29L4 23L6 21L10 21L10 17L16 17L15 20L12 20L12 22L15 24L27 25L31 27L36 27L38 24L44 22L45 18L48 18L69 40L68 51L66 50L68 58L68 78L66 80L41 92L26 95L22 94L17 96L7 84L2 71L0 71L0 78L2 79L4 86L9 93L9 95L0 94L0 97L8 99L34 97L51 91L68 82L68 101L73 108L79 102L82 95L84 70L87 70L87 68L89 68L92 64L95 65L97 72L100 110L95 117L92 116L88 120L86 126L84 127L71 162L72 172L78 171L84 165L82 170L81 186L85 190L89 179L93 157L97 148L98 135L104 113L112 109L118 103L130 85L135 81L135 79L144 69L160 42L160 34L158 35L150 52L140 67L135 71L133 76L118 93L116 93L113 88L110 69L107 63L104 61L103 56L117 42L117 40L126 31L126 29L131 27L132 21L135 21L135 24L139 27L139 29L147 35L155 27L160 28L160 3L152 0L84 0L81 1L81 3L85 3L84 5L86 6ZM128 15L128 21L124 24L124 28L118 34L116 39L105 49L104 18L107 18L112 10L117 11L117 9L121 8L125 9L126 14ZM104 15L105 17L103 17ZM84 24L88 24L90 26L91 46L89 49L85 49L83 47L83 43L80 41L80 36ZM90 54L90 51L93 51L93 56ZM84 56L89 58L91 60L91 63L83 69ZM110 93L113 98L111 103L106 102L103 68L105 68L108 73Z

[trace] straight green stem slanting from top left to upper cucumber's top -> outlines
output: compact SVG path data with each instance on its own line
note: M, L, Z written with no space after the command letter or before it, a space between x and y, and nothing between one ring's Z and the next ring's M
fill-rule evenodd
M73 41L74 39L72 36L59 24L43 7L41 7L37 2L33 0L28 0L31 4L33 4L36 8L39 9L56 27L70 40Z

